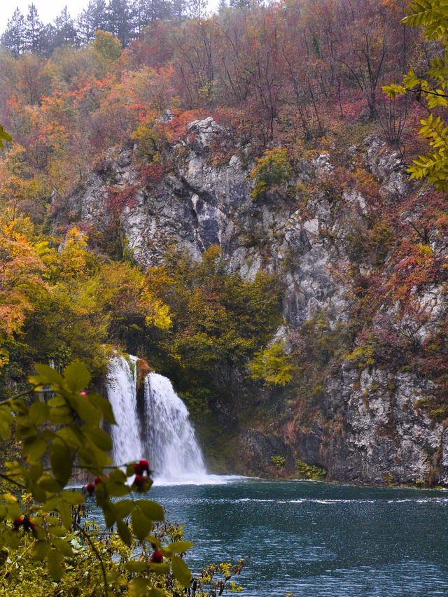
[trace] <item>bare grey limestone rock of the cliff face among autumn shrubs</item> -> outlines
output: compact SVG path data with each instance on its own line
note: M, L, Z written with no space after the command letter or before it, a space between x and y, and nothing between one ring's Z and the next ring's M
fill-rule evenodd
M340 190L335 209L334 197L324 191L325 177L334 171L332 155L322 153L297 167L293 200L275 191L267 200L254 201L248 178L253 163L245 148L235 148L219 164L211 159L225 134L212 118L191 122L186 138L171 149L172 167L144 184L137 184L135 148L111 150L102 169L73 194L69 210L86 224L107 226L109 189L132 187L132 202L121 211L120 225L141 265L158 265L173 245L200 260L205 249L217 244L230 271L244 279L253 280L261 269L279 273L289 330L299 328L318 308L325 309L330 322L343 321L349 298L334 274L335 265L344 270L349 263L342 239L353 226L366 225L367 199L356 189ZM349 155L357 150L349 148ZM365 139L361 150L381 195L393 202L409 192L400 155L379 136ZM349 163L346 167L352 169ZM304 183L322 188L311 215L300 208L307 192ZM434 288L427 300L437 303L439 293ZM328 379L321 409L307 426L296 426L291 433L290 422L286 433L292 414L284 412L278 426L268 431L237 428L241 458L233 470L275 475L270 458L278 455L286 458L290 471L298 457L325 467L330 479L412 483L432 476L448 483L445 428L416 405L425 384L410 373L359 374L346 363Z

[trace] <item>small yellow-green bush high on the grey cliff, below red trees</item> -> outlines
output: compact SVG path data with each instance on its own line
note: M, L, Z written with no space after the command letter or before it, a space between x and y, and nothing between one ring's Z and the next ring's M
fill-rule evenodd
M251 181L255 181L251 191L252 199L263 199L268 192L278 189L290 179L292 169L285 148L267 149L263 157L258 157L255 161L249 176Z

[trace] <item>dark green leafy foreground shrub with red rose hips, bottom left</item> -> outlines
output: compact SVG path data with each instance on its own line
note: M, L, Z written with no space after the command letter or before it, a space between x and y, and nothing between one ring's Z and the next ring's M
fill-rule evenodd
M82 583L78 594L169 597L194 585L194 594L206 595L183 560L193 543L183 540L181 533L165 542L167 533L157 530L165 519L162 507L135 495L145 494L153 483L148 462L127 463L126 472L112 465L112 443L102 422L116 421L108 400L85 391L90 381L85 365L75 361L62 374L48 365L35 368L29 382L36 400L17 397L0 405L0 437L14 437L22 447L21 458L4 463L0 475L26 496L22 503L13 493L1 496L0 561L6 566L0 589L13 595L19 571L27 565L60 583L64 575L85 570L87 561L90 578L96 559L101 584L90 592L90 580L77 577ZM94 483L83 490L69 489L74 471L91 475ZM106 542L80 524L80 509L93 498L106 528L116 529ZM120 563L111 554L118 554ZM20 584L21 595L23 588Z

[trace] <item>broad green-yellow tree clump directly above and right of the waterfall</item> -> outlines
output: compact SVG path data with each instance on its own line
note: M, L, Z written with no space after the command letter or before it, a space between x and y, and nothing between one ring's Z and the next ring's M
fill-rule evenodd
M260 272L246 282L225 273L217 246L199 263L179 253L167 255L166 265L148 269L146 277L172 314L173 327L158 341L159 349L181 367L184 378L200 381L212 367L230 372L266 344L281 322L276 276Z

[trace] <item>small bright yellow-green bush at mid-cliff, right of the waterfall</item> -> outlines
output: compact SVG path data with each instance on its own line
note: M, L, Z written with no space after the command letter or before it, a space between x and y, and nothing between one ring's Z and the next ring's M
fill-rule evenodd
M252 379L262 379L272 386L286 386L293 379L293 363L284 352L284 344L274 342L255 353L248 363Z

